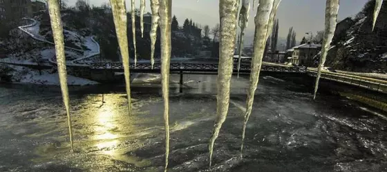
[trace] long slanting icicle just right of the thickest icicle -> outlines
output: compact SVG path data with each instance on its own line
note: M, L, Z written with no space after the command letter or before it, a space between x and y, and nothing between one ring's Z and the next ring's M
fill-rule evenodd
M281 0L260 0L256 10L254 52L252 56L251 73L249 80L249 91L247 92L245 119L243 120L242 142L240 144L240 158L243 158L243 142L245 140L246 125L252 114L254 94L258 85L261 72L263 53L265 52L266 41L272 32L276 10Z

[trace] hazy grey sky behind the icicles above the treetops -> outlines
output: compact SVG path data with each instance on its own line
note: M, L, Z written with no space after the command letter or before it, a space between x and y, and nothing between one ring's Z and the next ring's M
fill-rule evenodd
M76 0L66 0L70 6ZM99 6L108 0L88 0L91 4ZM353 14L357 14L368 0L341 0L339 9L339 19L344 19ZM179 25L182 25L186 18L192 19L200 25L209 25L210 28L219 23L219 1L218 0L173 0L172 13L178 18ZM258 0L256 0L258 3ZM126 0L128 10L130 1ZM147 0L148 12L150 1ZM136 8L140 8L140 0L136 0ZM249 25L246 36L254 34L254 15L256 11L250 12ZM290 27L296 30L297 40L307 36L305 32L317 32L323 30L325 17L325 0L282 0L277 12L279 19L279 37L285 38Z

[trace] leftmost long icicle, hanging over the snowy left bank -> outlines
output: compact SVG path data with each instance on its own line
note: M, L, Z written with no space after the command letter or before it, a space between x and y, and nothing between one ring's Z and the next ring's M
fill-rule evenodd
M62 28L62 19L60 15L59 3L57 0L48 0L48 11L50 13L51 28L53 29L53 37L55 43L55 54L57 56L57 65L59 73L59 81L62 90L62 98L67 114L68 135L70 138L71 152L73 149L73 128L71 127L70 105L68 98L67 87L67 70L66 56L64 55L64 36Z

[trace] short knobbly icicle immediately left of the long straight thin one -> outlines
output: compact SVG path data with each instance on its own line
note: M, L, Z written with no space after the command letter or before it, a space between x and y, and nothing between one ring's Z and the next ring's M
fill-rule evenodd
M151 0L151 10L152 10L152 28L151 32L149 32L149 36L151 37L151 68L153 69L153 65L155 64L155 43L157 39L157 28L158 21L160 19L160 15L158 10L160 8L159 0Z

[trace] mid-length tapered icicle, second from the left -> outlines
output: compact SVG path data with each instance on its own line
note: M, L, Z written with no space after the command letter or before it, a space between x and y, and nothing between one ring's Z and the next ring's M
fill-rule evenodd
M118 45L122 56L122 65L124 65L124 76L126 85L126 96L128 96L128 111L131 115L131 80L129 73L129 49L127 34L127 18L125 0L110 0L111 10L113 11L113 19L115 32L117 34Z

